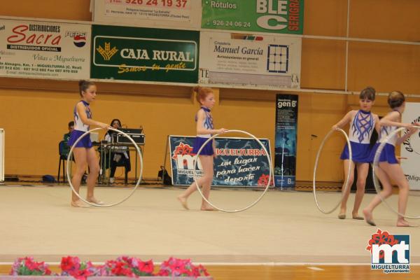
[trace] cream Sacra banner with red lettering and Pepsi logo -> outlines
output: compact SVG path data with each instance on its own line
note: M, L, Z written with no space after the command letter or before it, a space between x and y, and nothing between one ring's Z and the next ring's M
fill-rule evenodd
M90 25L0 19L0 76L90 76Z

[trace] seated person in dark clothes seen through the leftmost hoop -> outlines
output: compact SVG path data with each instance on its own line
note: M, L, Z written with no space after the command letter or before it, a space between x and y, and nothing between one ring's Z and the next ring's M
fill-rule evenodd
M111 122L111 127L120 130L121 128L121 122L120 120L113 119ZM112 130L109 130L105 135L105 140L109 143L113 142L112 136L113 134L116 134L116 132L113 132ZM131 170L131 163L130 163L130 152L128 151L127 146L112 146L111 147L111 174L109 175L109 182L113 183L115 182L115 174L116 169L118 166L125 167L125 175L127 177L127 173ZM127 183L127 181L125 182Z

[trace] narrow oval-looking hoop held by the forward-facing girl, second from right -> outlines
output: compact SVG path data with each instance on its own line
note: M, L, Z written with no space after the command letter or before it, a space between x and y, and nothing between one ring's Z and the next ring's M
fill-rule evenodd
M319 156L321 155L321 151L323 149L323 146L325 144L325 142L327 141L328 138L330 138L330 135L332 134L332 132L341 132L344 137L346 137L346 142L347 142L347 146L349 147L349 171L347 172L347 177L346 177L346 181L344 182L344 192L342 192L342 198L341 200L339 200L339 202L337 203L337 205L332 208L330 211L325 211L321 205L319 205L318 199L316 198L316 169L318 168L318 161L319 161ZM332 211L335 211L335 209L337 209L339 207L339 204L342 203L344 194L347 191L347 188L349 188L349 177L351 174L351 160L353 159L352 154L351 154L351 145L350 145L350 140L349 137L347 137L346 132L344 132L344 130L342 130L341 128L339 128L338 130L330 130L330 132L327 133L327 135L325 135L323 141L321 142L321 146L319 146L318 148L318 153L316 153L316 160L315 160L315 166L314 166L314 180L312 182L312 186L314 188L314 199L315 199L315 203L316 203L316 207L318 207L319 211L321 211L323 214L330 214L332 213Z

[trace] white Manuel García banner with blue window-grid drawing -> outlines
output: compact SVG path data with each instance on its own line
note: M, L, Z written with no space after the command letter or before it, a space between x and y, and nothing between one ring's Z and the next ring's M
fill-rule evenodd
M302 39L200 32L200 83L300 87Z

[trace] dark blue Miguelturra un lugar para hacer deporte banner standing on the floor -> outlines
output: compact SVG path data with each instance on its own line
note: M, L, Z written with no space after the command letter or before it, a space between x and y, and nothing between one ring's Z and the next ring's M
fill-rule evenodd
M169 136L172 184L188 186L193 183L195 137ZM269 153L269 140L260 139ZM269 162L264 149L254 139L216 138L216 158L214 158L213 186L252 187L267 186ZM202 176L200 160L195 169Z

